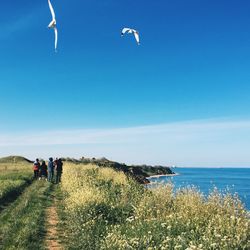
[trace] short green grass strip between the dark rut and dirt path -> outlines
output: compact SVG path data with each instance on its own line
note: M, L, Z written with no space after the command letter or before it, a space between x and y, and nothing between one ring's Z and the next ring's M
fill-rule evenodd
M0 248L44 249L45 209L51 184L35 181L0 214Z

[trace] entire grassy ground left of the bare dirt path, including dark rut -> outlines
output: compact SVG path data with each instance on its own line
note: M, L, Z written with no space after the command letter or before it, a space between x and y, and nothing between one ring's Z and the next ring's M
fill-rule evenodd
M0 249L45 249L45 209L51 184L33 181L32 163L0 162Z

